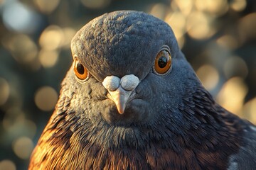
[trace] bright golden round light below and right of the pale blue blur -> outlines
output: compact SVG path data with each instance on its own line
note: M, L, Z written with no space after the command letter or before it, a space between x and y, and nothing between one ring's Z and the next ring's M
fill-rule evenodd
M40 36L39 44L44 50L58 50L64 40L63 30L58 26L48 26Z

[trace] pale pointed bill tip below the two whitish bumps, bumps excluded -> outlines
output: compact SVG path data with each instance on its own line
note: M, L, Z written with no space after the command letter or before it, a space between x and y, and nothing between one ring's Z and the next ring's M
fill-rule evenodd
M118 113L123 114L132 91L126 91L121 86L119 86L117 90L109 91L109 94L110 99L114 101L115 105L117 106Z

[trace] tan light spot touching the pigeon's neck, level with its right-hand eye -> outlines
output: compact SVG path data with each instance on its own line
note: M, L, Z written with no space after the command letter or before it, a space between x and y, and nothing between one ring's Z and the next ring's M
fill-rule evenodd
M205 86L208 91L213 90L218 84L219 74L217 69L215 69L213 66L208 64L203 65L196 71L196 74L202 81L203 86Z

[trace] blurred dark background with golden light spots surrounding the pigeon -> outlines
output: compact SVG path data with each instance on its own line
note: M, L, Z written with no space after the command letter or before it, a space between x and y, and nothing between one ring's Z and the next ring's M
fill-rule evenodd
M0 0L0 170L27 169L72 63L76 31L122 9L169 23L218 103L256 123L255 0Z

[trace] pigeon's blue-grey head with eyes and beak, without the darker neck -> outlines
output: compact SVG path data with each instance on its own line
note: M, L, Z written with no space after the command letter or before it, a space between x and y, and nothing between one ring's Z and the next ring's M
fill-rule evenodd
M170 114L189 86L180 77L195 77L170 26L142 12L95 18L78 31L71 50L68 79L75 78L80 90L74 107L111 124L148 123Z

